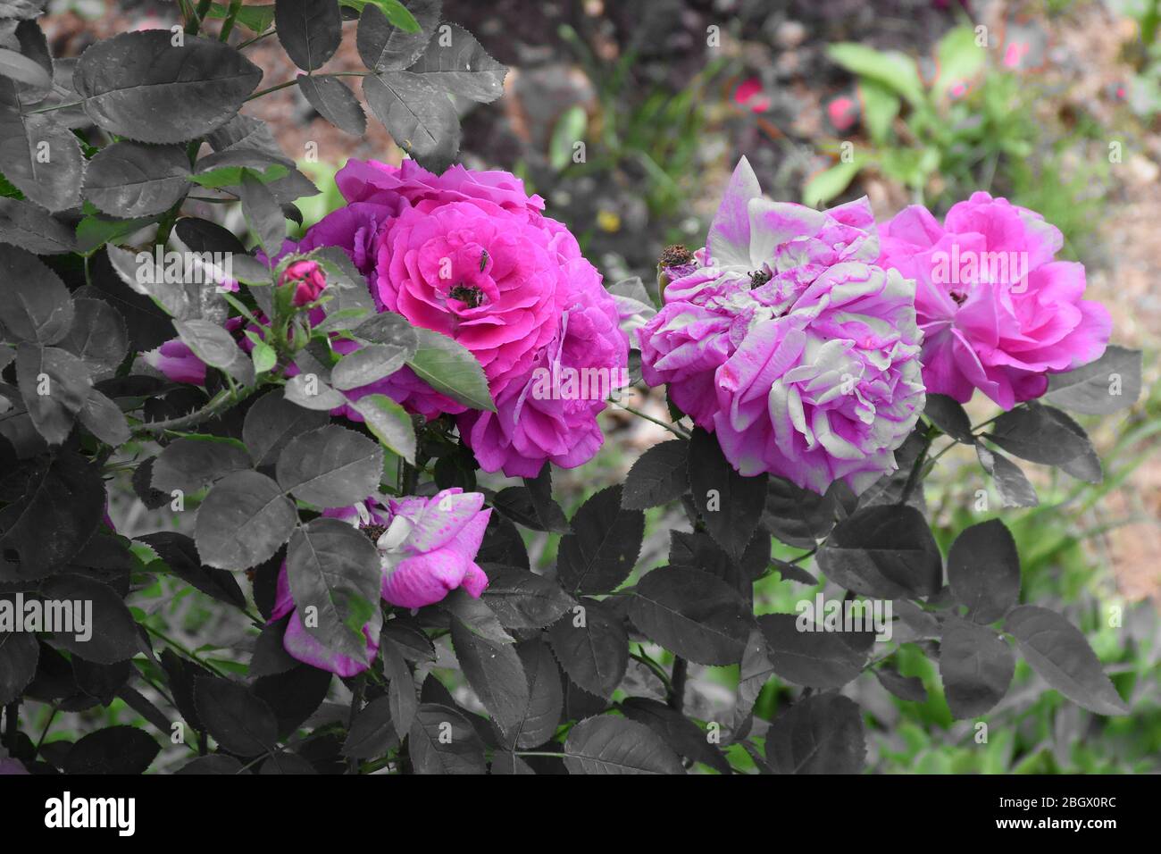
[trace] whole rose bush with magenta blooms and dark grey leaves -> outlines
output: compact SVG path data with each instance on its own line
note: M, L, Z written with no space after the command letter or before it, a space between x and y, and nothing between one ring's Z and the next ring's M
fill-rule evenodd
M0 146L0 773L857 773L901 703L1019 729L1017 654L1086 732L1131 711L1138 674L1031 601L1008 517L925 503L956 445L1004 511L1039 501L1011 458L1099 481L1065 410L1139 395L1031 211L880 229L764 199L743 160L655 300L513 174L452 165L452 96L505 69L439 2L363 3L365 71L337 73L332 0L180 3L74 63L35 7L2 10L0 117L28 132ZM257 91L264 34L322 116L360 136L366 102L409 155L349 162L293 241L316 188L240 112L289 86ZM952 281L943 251L1017 266ZM672 438L558 503L630 347ZM1002 410L976 425L974 388ZM45 622L64 603L92 632Z

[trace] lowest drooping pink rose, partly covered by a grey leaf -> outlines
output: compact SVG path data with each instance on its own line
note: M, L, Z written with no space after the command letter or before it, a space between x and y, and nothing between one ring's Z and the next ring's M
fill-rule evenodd
M369 497L354 507L324 510L373 538L383 569L382 596L398 608L423 608L440 602L456 588L479 598L488 576L475 562L491 509L484 496L459 488L433 497ZM366 654L360 659L336 653L316 640L298 616L290 594L287 565L279 570L271 622L289 616L282 646L293 658L339 676L362 673L375 660L378 638L368 624Z

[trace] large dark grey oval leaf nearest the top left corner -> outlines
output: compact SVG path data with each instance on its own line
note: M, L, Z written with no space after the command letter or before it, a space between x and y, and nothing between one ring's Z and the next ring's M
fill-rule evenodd
M217 40L187 35L175 48L172 38L168 29L122 33L81 55L73 85L99 127L140 142L193 139L230 121L262 79Z

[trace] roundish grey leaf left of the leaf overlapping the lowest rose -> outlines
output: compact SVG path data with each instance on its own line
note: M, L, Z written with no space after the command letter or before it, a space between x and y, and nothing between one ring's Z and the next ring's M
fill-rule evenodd
M207 566L248 569L269 559L297 521L277 483L258 472L235 472L215 483L197 509L194 541Z

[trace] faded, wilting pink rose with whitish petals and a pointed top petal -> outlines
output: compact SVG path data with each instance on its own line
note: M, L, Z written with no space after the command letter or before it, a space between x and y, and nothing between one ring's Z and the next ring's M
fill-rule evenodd
M861 493L894 471L924 403L914 284L878 253L865 199L771 202L743 159L698 268L637 332L646 381L741 474Z

